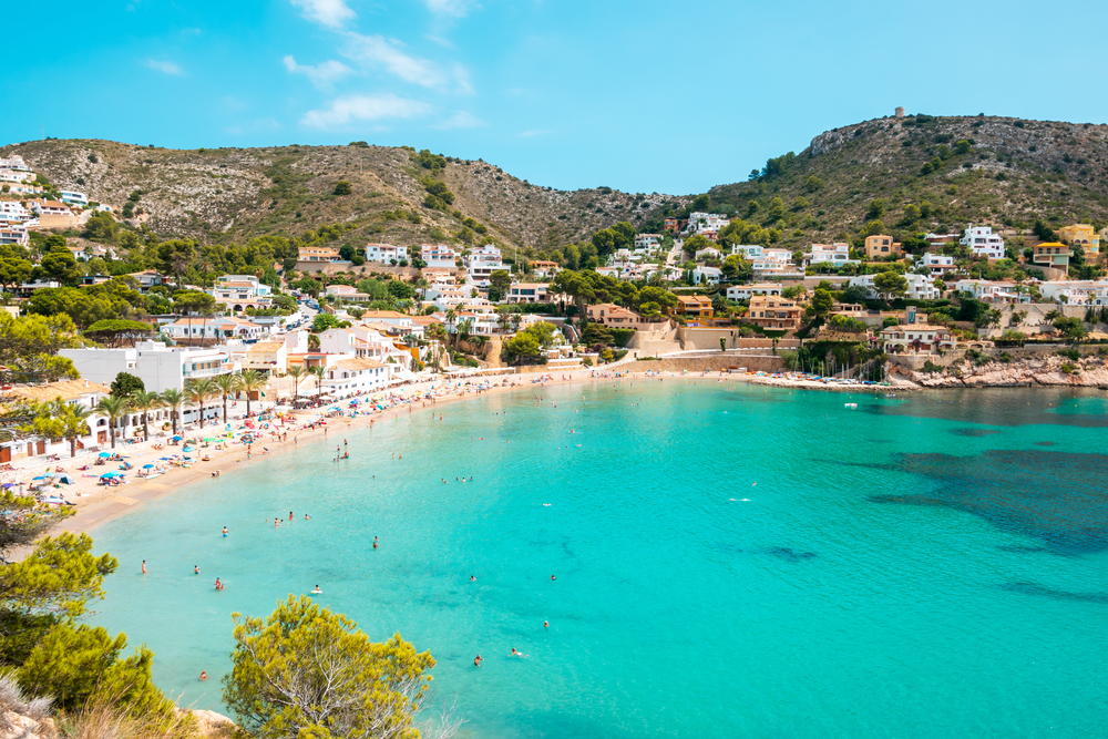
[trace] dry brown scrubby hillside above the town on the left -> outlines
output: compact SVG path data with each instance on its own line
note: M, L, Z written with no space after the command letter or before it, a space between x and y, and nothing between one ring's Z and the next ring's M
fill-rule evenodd
M85 192L117 212L140 191L134 202L138 218L162 236L224 243L350 224L356 230L343 240L418 245L456 240L463 219L472 218L505 246L545 247L587 239L619 220L643 223L664 204L688 201L607 187L562 192L533 186L481 161L433 157L435 166L424 168L413 151L402 147L179 151L47 140L0 150L0 156L12 154L52 184ZM449 212L423 205L427 176L444 182L455 195ZM332 194L340 181L350 183L351 194Z

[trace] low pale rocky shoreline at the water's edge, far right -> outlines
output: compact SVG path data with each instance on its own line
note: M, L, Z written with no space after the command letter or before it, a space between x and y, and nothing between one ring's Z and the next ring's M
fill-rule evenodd
M1108 388L1108 362L1102 357L1073 360L1051 356L1010 362L989 361L984 365L966 360L952 365L942 372L906 373L923 388Z

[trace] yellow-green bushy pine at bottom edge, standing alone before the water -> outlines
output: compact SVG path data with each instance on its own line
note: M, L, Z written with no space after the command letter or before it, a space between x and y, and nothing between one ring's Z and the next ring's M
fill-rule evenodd
M289 596L265 620L233 615L224 702L258 739L418 736L430 653L394 635L377 644L345 616Z

